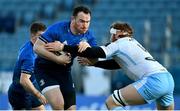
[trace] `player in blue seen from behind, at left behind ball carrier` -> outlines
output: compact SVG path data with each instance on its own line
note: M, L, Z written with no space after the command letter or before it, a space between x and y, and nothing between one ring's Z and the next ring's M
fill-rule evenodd
M34 76L35 53L33 44L46 29L42 23L35 22L30 26L30 41L19 50L14 68L13 82L8 90L9 102L13 110L45 110L46 98L39 92Z

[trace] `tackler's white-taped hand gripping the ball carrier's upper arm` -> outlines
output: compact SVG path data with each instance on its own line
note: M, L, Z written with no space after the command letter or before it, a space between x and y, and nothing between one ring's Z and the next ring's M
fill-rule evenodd
M64 44L59 41L55 41L55 42L45 44L45 48L51 52L62 51L64 48Z

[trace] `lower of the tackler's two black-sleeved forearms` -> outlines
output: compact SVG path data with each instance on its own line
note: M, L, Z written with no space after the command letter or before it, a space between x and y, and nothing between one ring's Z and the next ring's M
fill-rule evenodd
M121 68L119 66L119 64L114 59L98 61L93 66L100 67L100 68L103 68L103 69L109 69L109 70L114 70L114 69L120 69Z

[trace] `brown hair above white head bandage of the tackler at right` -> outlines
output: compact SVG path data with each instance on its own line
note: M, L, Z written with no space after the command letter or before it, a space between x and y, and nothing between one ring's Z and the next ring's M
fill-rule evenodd
M112 23L110 28L127 32L129 36L133 35L133 28L126 22L120 22L120 21L114 22Z

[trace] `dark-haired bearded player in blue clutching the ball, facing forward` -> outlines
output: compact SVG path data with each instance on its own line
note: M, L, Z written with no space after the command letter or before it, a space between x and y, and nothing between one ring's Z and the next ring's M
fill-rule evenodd
M52 109L75 110L75 87L71 77L71 66L76 55L65 52L50 52L45 45L51 42L62 42L67 45L78 45L87 41L96 45L93 34L89 31L91 11L86 6L74 8L70 21L61 21L48 27L34 46L38 54L35 61L35 75L42 93Z

